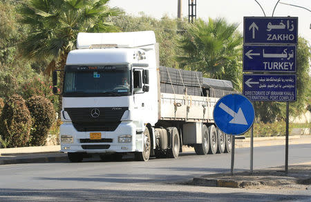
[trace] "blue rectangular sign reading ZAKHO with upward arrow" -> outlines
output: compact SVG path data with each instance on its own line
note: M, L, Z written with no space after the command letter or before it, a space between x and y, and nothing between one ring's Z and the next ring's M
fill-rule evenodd
M292 43L298 40L298 17L244 17L244 43Z

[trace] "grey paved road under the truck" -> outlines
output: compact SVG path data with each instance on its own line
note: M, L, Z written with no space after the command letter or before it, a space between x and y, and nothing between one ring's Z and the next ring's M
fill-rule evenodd
M290 164L311 161L311 144L290 145ZM254 169L284 165L284 146L254 148ZM229 172L230 154L148 162L87 161L0 166L0 201L310 201L311 190L241 190L176 185ZM249 169L249 148L236 150L236 170ZM310 186L309 186L310 187Z

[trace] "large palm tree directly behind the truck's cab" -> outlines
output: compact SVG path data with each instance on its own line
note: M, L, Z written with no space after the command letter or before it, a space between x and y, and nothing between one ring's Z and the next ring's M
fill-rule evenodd
M121 14L119 8L106 6L109 0L29 0L21 6L21 23L29 32L21 43L21 52L30 59L49 59L45 70L64 70L68 52L75 48L78 32L117 30L105 22Z

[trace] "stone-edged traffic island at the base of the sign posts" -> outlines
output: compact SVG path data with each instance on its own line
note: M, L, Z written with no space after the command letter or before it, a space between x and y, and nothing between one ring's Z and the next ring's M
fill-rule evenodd
M249 172L209 174L195 177L188 185L223 188L247 188L258 186L311 185L311 161L290 165L285 174L283 166Z

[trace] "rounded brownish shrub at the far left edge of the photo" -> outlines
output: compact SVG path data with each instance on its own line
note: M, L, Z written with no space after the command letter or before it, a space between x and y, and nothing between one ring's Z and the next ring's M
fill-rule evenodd
M12 95L0 117L0 134L5 147L17 148L28 144L32 120L24 99L18 94Z

